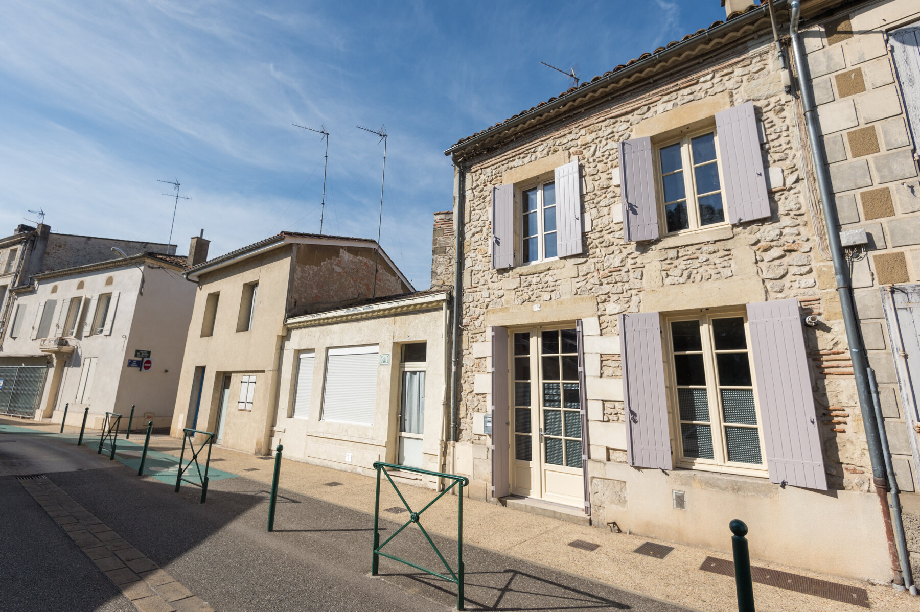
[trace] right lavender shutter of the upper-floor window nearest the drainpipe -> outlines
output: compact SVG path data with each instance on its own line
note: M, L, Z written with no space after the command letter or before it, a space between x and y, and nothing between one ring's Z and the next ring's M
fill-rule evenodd
M716 113L719 164L722 164L722 197L731 224L770 217L766 197L764 159L757 137L753 102Z

